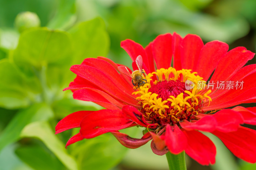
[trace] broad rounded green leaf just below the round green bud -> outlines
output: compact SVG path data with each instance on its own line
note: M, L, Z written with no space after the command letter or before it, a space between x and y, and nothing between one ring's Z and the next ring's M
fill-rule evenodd
M20 35L18 47L13 52L14 62L27 70L42 66L70 64L72 44L67 33L48 28L34 28ZM30 70L32 72L32 68Z

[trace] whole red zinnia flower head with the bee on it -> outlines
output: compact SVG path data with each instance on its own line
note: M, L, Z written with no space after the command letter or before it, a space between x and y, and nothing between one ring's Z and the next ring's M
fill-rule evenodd
M128 148L153 139L158 155L185 151L202 165L214 164L216 148L204 131L219 137L238 158L256 162L256 131L240 126L256 125L256 107L224 109L256 102L256 64L243 67L254 53L244 47L228 51L220 41L204 45L197 35L176 33L159 35L146 48L132 40L121 47L131 56L134 72L104 57L70 68L77 77L64 90L106 109L62 119L56 134L81 128L66 146L111 132ZM118 132L138 125L148 129L141 139Z

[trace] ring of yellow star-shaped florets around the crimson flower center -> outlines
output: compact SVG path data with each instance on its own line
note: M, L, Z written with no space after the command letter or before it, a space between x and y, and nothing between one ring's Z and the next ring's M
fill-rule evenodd
M185 82L186 80L190 80L195 84L195 86L191 90L184 91L186 94L188 94L188 96L186 96L184 93L180 93L176 97L169 96L170 98L162 101L162 98L157 98L158 94L148 92L148 89L151 87L150 81L152 80L151 77L153 76L153 74L156 74L156 76L158 77L158 81L155 80L154 84L157 84L164 80L180 81L180 79L182 79L183 82ZM154 113L154 114L158 114L160 118L165 118L166 115L169 115L174 120L179 121L179 119L176 116L182 113L183 111L185 111L185 109L187 111L193 111L193 113L198 114L197 112L198 110L196 111L194 107L198 106L199 101L206 100L206 99L209 100L209 103L210 101L212 101L211 97L208 96L208 94L211 93L211 90L204 92L204 94L202 93L199 94L199 92L201 92L205 87L205 81L203 80L202 77L196 74L197 72L191 73L191 70L186 70L186 69L176 70L172 67L168 69L161 68L159 70L156 70L156 72L149 73L146 76L148 83L144 84L143 86L140 86L140 88L138 88L138 91L133 92L132 94L135 94L135 95L140 94L140 96L137 97L136 100L139 100L139 102L142 101L142 104L143 104L142 107L146 109L148 118L149 118L149 115ZM189 104L188 101L191 104ZM170 105L168 106L166 104L167 102L171 102L171 107L173 108L170 113L166 113L166 109L170 108L169 107ZM153 112L152 111L150 112L151 109Z

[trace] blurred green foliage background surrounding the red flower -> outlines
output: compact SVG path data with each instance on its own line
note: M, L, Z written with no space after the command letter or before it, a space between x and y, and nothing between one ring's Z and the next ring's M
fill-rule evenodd
M122 40L145 47L167 32L255 52L255 9L255 0L0 0L0 170L168 169L150 143L127 149L111 134L65 149L79 129L54 135L57 122L75 111L101 109L62 92L75 78L70 66L97 56L131 66ZM123 131L142 136L136 127ZM206 135L217 146L216 164L201 166L187 157L189 170L256 169Z

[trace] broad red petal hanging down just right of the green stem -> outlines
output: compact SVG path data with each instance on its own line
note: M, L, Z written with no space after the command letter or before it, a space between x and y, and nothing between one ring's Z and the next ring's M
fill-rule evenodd
M183 131L188 139L185 152L201 165L215 163L216 147L212 141L202 133L192 130Z

